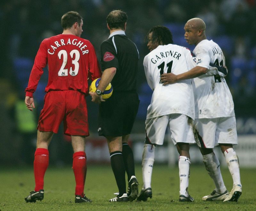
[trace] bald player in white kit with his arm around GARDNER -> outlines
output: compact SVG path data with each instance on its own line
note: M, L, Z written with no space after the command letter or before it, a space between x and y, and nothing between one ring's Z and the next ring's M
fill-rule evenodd
M237 201L242 194L242 186L239 161L233 149L233 145L237 144L234 103L223 75L208 71L210 62L225 65L225 57L218 44L206 39L205 28L200 18L188 20L184 27L185 39L188 44L196 46L193 53L196 55L197 66L179 75L163 74L161 81L172 84L194 78L194 133L206 170L216 186L203 200ZM213 152L217 145L220 145L233 178L233 188L229 193L220 173L220 162Z

